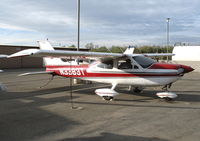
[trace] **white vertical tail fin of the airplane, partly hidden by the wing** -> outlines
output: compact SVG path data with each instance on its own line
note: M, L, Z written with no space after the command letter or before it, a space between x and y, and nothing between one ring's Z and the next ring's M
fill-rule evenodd
M48 41L38 41L39 47L42 50L54 50L51 44ZM60 58L56 57L44 57L45 66L61 66L61 65L70 65L69 62L64 62Z

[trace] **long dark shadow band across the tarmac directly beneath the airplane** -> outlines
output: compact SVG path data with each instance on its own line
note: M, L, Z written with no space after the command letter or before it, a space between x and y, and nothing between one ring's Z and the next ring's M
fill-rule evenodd
M79 85L73 85L72 91L73 93L80 93L84 95L95 95L94 91L98 88L110 88L110 85L105 84L79 84ZM5 94L0 95L0 100L9 98L25 98L30 96L39 96L39 95L46 95L46 94L53 94L53 93L59 93L59 92L66 92L66 94L69 94L71 90L70 86L63 86L63 87L56 87L56 88L41 88L41 89L35 89L31 92L6 92ZM116 91L121 94L127 94L127 95L135 95L135 96L142 96L143 98L137 98L137 99L122 99L117 97L116 101L136 101L136 102L146 102L148 100L152 99L159 99L156 96L157 92L162 92L162 90L148 90L144 89L141 93L134 93L133 91L128 91L127 88L124 87L117 87ZM200 91L172 91L175 92L178 97L175 99L175 101L182 101L182 102L200 102ZM17 94L16 94L17 93ZM74 95L74 94L73 94Z

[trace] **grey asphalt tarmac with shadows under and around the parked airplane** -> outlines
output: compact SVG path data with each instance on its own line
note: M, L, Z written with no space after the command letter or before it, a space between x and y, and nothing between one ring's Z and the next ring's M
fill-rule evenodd
M106 84L72 86L71 108L68 78L50 76L17 77L35 69L6 70L0 83L1 141L199 141L200 73L177 81L175 101L155 96L161 88L146 88L140 94L120 86L114 101L94 94Z

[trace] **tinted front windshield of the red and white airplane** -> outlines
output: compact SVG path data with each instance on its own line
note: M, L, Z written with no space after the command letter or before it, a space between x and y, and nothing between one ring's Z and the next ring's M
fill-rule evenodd
M144 56L135 56L133 57L133 59L143 68L148 68L149 66L151 66L153 63L156 62L155 60Z

